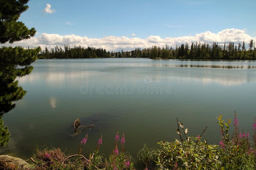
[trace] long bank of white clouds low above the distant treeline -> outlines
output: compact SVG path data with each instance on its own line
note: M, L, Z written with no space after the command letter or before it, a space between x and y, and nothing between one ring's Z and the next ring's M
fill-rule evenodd
M48 48L52 48L56 45L58 46L64 46L70 45L70 46L94 46L94 47L102 47L106 48L106 50L113 50L113 51L119 51L121 49L123 50L133 50L137 47L140 48L148 48L152 47L153 45L156 46L165 46L166 44L168 46L175 47L176 44L180 45L182 43L188 42L190 45L192 42L201 42L201 43L209 43L210 45L212 42L219 42L219 44L228 43L229 41L234 42L235 44L242 43L243 41L248 46L249 41L253 39L256 40L256 37L251 37L250 35L246 34L244 30L239 29L226 29L222 30L218 33L213 33L210 31L206 31L203 33L196 34L195 36L183 36L183 37L166 37L161 38L160 36L149 36L146 39L141 38L128 38L128 37L116 37L116 36L108 36L103 37L100 39L92 39L88 37L81 37L78 35L64 35L60 36L59 34L47 34L42 33L38 37L32 37L28 40L23 40L20 42L15 42L13 44L10 44L12 46L23 46L23 47L36 47L41 46L42 48L45 48L47 46ZM9 44L5 44L9 45Z

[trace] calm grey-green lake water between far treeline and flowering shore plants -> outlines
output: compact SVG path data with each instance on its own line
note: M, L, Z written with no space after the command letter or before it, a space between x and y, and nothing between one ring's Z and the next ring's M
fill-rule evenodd
M27 95L3 117L12 156L28 159L36 145L77 153L87 132L83 153L93 151L103 134L100 152L109 154L117 128L125 133L125 150L135 156L144 143L156 147L178 138L176 117L191 136L208 125L203 138L218 144L216 117L233 120L234 110L239 128L252 132L256 61L59 59L33 66L19 79ZM95 127L70 137L77 117Z

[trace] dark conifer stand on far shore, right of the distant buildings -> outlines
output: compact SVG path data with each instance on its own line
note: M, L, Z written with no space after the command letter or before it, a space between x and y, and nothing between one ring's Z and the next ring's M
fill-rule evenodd
M148 51L149 52L149 51ZM234 45L234 42L228 44L218 45L213 42L210 46L208 43L188 43L181 44L181 46L169 48L165 46L160 48L153 46L150 53L142 50L141 55L149 58L172 58L172 59L212 59L212 60L255 60L256 47L253 40L249 43L249 49L245 49L245 43Z

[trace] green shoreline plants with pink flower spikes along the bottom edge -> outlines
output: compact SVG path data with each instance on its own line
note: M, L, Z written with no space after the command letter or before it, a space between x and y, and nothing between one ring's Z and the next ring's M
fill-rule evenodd
M219 145L209 145L202 138L207 126L197 137L189 137L188 128L177 119L176 131L179 138L174 142L160 141L156 149L144 145L137 159L124 151L125 136L124 133L119 136L117 130L115 146L108 156L99 154L102 135L92 153L88 156L81 154L88 139L87 133L80 142L77 154L65 155L59 148L38 149L31 161L36 169L256 169L256 119L252 124L253 141L249 141L249 131L239 131L236 113L232 135L229 133L231 119L225 122L221 115L217 119L220 125ZM3 161L0 163L6 169L19 169Z

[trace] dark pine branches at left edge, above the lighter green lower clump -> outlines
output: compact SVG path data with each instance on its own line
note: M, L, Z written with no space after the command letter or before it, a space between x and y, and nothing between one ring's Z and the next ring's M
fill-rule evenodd
M17 21L20 14L28 9L28 0L0 1L0 43L13 43L29 39L36 33L35 28L28 29L24 23ZM0 115L15 107L13 101L20 100L26 91L18 86L18 77L30 74L30 66L37 58L41 48L24 49L21 46L0 48Z

